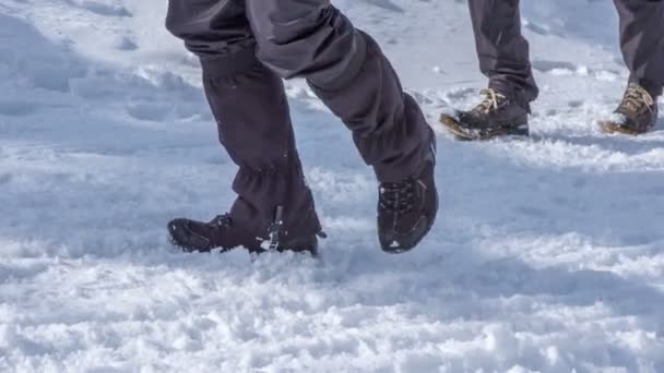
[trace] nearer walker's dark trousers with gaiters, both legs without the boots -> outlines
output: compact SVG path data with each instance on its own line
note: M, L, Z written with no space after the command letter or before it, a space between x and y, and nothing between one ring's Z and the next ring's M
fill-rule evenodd
M379 46L329 0L169 0L166 23L201 59L220 140L240 167L230 214L252 231L264 232L278 205L294 236L320 229L282 77L307 80L380 181L430 158L420 109Z

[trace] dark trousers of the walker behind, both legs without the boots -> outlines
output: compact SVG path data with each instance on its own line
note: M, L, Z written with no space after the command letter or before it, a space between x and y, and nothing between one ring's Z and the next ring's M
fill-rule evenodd
M664 86L664 1L614 0L620 16L620 45L630 82L653 97ZM479 68L489 87L514 93L522 103L538 91L521 34L519 0L469 0Z

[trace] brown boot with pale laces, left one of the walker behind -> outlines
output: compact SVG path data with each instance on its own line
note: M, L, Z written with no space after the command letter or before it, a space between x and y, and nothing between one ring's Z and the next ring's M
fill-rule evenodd
M477 141L498 136L530 134L527 105L494 88L483 89L484 100L470 111L442 115L440 122L459 140Z

